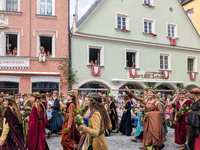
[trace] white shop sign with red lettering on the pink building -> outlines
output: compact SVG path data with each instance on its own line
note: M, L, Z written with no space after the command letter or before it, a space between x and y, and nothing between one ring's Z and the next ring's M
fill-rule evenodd
M29 58L1 57L0 67L30 67Z

